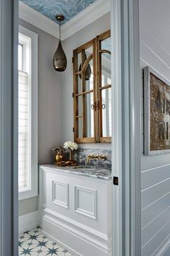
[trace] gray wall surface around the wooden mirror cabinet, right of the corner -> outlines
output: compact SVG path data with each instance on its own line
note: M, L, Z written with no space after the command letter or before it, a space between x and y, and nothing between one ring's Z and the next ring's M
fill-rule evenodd
M63 42L64 50L68 59L68 67L63 74L63 142L67 140L73 140L73 49L81 46L83 43L95 38L97 35L109 30L110 17L109 13L99 18L90 25L84 27L82 30L67 38ZM110 148L110 145L94 145L95 148ZM84 145L85 147L85 145ZM91 145L86 145L87 148L91 148Z

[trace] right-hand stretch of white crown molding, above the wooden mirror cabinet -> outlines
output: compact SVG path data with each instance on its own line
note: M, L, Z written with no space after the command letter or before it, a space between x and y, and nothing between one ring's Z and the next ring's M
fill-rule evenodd
M62 40L69 38L71 35L99 19L99 17L104 16L104 14L107 14L109 11L110 0L94 1L93 4L82 12L79 12L79 14L62 26Z

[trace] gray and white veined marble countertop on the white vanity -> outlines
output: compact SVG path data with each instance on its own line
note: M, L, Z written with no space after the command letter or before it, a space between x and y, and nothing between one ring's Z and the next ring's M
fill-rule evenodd
M76 174L81 176L89 176L97 179L110 180L112 179L111 170L105 168L97 168L95 166L56 166L55 164L43 164L42 168L50 168L53 171L63 171L69 174Z

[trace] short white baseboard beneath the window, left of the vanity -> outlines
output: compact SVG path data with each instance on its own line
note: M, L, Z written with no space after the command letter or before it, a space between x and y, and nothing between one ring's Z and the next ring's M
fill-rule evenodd
M35 229L38 225L38 210L19 216L19 234Z

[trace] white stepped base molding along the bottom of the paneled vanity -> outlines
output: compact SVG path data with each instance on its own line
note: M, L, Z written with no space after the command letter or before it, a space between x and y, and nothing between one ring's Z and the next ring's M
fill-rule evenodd
M40 226L52 240L67 248L73 255L109 256L111 254L111 237L87 226L64 218L52 210L45 209Z

